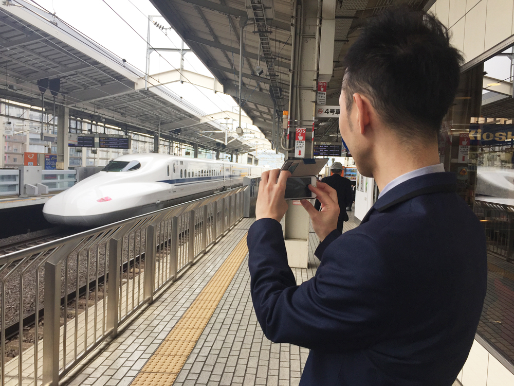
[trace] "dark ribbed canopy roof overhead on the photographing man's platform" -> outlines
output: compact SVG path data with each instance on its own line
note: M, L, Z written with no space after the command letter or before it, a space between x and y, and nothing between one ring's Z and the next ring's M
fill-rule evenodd
M244 63L241 104L246 114L271 139L273 110L288 110L291 65L292 10L296 1L285 0L150 0L180 37L238 100L240 22ZM318 1L318 0L307 0ZM384 8L410 4L422 9L435 0L339 0L336 7L333 78L327 86L326 104L337 104L343 76L342 58L357 37L363 21ZM262 16L266 15L266 25ZM261 49L259 49L261 47ZM260 52L260 53L259 53ZM313 52L314 55L314 52ZM256 69L263 69L262 75ZM323 120L323 119L321 119ZM325 119L334 121L334 119ZM337 125L316 131L329 135ZM318 138L319 139L319 138Z

